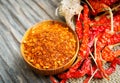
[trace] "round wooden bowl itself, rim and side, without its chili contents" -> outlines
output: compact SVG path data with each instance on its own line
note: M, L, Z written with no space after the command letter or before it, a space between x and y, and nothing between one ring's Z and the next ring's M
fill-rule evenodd
M22 38L22 42L21 42L21 46L20 46L20 50L21 50L21 54L25 60L25 62L27 62L27 64L37 73L41 74L41 75L55 75L58 73L61 73L65 70L67 70L69 67L71 67L71 65L74 63L74 61L76 60L78 51L79 51L79 40L78 37L76 35L76 33L70 28L68 27L69 31L71 31L75 37L75 41L76 41L76 48L75 48L75 53L73 55L73 57L64 65L61 65L60 67L57 68L50 68L50 69L43 69L43 68L38 68L35 65L31 64L31 62L28 61L28 59L25 57L25 46L24 46L24 40L26 40L31 32L32 29L38 29L39 30L39 26L43 25L43 24L60 24L64 27L68 27L65 23L62 22L58 22L58 21L52 21L52 20L48 20L48 21L43 21L40 23L35 24L33 27L29 28L26 33L24 34L23 38ZM59 27L58 27L59 28Z

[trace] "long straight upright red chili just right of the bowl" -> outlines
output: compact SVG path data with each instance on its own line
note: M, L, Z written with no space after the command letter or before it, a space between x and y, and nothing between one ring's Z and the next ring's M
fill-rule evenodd
M79 55L82 56L82 58L88 57L89 55L89 48L88 48L88 42L89 42L89 19L88 19L88 13L89 9L87 5L84 5L84 12L83 12L83 38L80 46L80 52Z

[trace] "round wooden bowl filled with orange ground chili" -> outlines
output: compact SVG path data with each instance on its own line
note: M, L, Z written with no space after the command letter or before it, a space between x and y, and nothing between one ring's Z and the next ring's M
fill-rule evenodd
M54 75L74 63L79 41L76 33L65 23L49 20L29 28L20 49L33 70L42 75Z

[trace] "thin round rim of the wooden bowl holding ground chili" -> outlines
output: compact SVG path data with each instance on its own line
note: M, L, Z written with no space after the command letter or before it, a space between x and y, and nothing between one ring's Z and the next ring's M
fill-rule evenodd
M24 54L24 44L23 44L23 41L26 39L26 37L29 35L29 32L33 29L33 28L37 28L36 26L37 25L41 25L42 23L45 23L45 22L55 22L55 23L59 23L59 24L62 24L62 25L65 25L67 26L68 29L70 29L70 31L73 33L74 37L75 37L75 40L76 40L76 50L75 50L75 54L73 55L73 57L64 65L62 66L59 66L57 68L50 68L50 69L42 69L42 68L37 68L36 66L32 65L26 58L25 58L25 54ZM64 68L65 66L69 65L71 63L71 61L75 58L77 58L77 54L78 54L78 51L79 51L79 39L78 39L78 36L76 34L75 31L73 31L66 23L64 22L61 22L61 21L56 21L56 20L44 20L42 22L38 22L36 24L34 24L32 27L28 28L27 31L24 33L23 35L23 38L21 40L21 45L20 45L20 51L21 51L21 54L22 54L22 57L23 59L25 60L25 62L27 62L31 67L37 69L37 70L48 70L48 71L53 71L53 70L58 70L58 69L61 69L61 68ZM75 61L75 60L74 60ZM74 63L74 62L73 62ZM73 64L72 63L72 64Z

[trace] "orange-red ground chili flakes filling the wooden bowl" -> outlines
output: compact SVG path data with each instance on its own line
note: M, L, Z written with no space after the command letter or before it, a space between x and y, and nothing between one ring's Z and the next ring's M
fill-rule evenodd
M40 69L55 69L66 64L76 50L74 34L57 22L32 27L22 43L26 60Z

